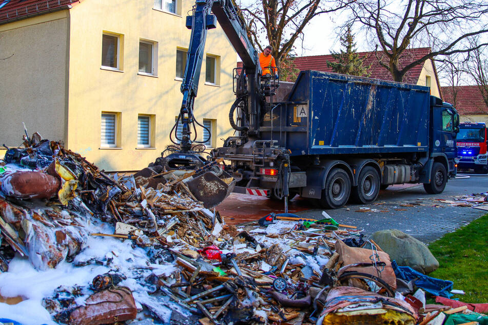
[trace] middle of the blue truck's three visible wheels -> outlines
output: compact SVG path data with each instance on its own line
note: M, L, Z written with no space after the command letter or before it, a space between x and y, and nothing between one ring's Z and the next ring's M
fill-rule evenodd
M351 197L358 204L368 204L376 200L380 193L380 176L371 166L364 167L359 173L358 186L353 187Z

